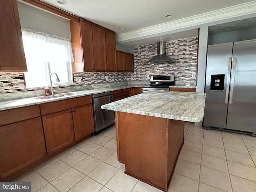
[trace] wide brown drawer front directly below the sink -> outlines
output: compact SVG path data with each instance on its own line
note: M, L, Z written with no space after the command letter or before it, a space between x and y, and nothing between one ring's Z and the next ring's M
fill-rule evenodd
M92 103L92 96L84 96L84 97L77 97L72 99L66 99L61 101L54 101L49 103L40 104L41 114L51 114L67 109L71 109L74 107L79 107L82 105L87 105Z

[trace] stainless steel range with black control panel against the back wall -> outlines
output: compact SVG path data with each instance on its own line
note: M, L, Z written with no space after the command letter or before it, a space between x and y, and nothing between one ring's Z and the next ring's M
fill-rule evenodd
M169 86L174 85L175 75L157 75L150 77L150 84L142 86L142 92L169 91Z

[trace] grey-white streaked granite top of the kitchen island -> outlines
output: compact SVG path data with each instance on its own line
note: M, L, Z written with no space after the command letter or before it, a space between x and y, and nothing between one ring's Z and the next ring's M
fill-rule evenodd
M201 122L205 93L151 91L102 105L102 109Z

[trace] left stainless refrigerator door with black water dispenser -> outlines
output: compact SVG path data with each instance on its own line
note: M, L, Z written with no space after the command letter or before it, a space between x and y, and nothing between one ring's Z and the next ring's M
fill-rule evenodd
M226 128L232 49L233 42L208 46L204 126Z

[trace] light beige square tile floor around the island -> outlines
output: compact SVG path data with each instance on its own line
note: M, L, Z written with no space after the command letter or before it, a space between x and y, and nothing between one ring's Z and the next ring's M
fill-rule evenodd
M168 192L256 191L256 138L189 122L184 136ZM32 182L32 192L160 192L124 169L112 126L14 181Z

